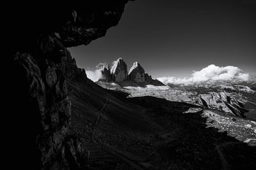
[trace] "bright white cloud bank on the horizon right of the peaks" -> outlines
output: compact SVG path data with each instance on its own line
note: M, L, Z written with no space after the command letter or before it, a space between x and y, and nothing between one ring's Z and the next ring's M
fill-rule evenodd
M243 73L239 67L219 67L211 64L200 71L194 71L190 78L161 77L157 78L157 80L162 81L164 84L172 83L175 85L189 85L205 81L248 81L249 78L250 75L248 73Z

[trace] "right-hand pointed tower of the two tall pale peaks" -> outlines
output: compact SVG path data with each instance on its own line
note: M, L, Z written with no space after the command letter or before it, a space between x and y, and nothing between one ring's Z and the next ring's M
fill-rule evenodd
M140 66L138 62L134 62L129 71L129 80L136 83L145 82L145 70Z

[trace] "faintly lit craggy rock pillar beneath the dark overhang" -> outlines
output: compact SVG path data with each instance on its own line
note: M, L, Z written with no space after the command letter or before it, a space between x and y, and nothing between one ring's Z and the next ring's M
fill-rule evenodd
M41 62L40 67L35 57L29 53L17 53L15 61L17 69L22 73L20 75L26 75L27 81L23 83L29 85L29 101L23 99L20 103L28 102L29 111L36 114L36 119L33 120L36 126L31 128L36 131L36 155L39 156L36 159L40 159L37 168L80 167L79 160L84 159L83 149L79 147L79 139L68 134L71 103L60 67L51 60ZM25 123L30 118L21 120Z

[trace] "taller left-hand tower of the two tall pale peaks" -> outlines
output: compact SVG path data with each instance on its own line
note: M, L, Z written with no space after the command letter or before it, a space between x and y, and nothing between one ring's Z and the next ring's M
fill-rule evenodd
M122 58L117 59L111 68L112 80L116 82L127 80L127 65Z

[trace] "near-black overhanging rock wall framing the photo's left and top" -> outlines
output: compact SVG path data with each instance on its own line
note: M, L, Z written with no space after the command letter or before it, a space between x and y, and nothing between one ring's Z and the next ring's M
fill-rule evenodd
M109 27L118 24L125 3L126 0L87 3L81 10L10 11L10 77L14 82L9 88L13 93L10 96L15 98L9 110L17 119L13 124L24 130L20 136L15 133L22 146L20 152L15 152L29 152L29 147L35 152L29 157L14 158L13 162L22 163L20 168L27 163L27 169L35 162L31 169L85 169L79 138L68 133L71 104L67 81L86 85L87 78L67 47L87 45L104 36ZM34 145L28 144L31 136L35 136Z

